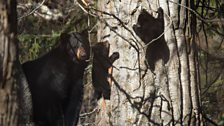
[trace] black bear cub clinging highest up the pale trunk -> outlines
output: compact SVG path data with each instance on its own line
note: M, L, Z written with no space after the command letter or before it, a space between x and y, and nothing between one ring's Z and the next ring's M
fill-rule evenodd
M164 19L162 8L158 9L158 18L154 18L146 10L142 10L138 17L137 24L133 25L133 30L145 44L149 44L146 49L146 59L149 68L154 71L155 63L162 59L164 63L169 60L169 48L165 42L164 35L156 39L164 32Z

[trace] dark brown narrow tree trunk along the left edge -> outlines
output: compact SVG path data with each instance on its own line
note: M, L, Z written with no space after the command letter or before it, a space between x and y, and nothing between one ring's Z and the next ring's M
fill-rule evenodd
M16 93L16 1L0 2L0 125L18 125Z

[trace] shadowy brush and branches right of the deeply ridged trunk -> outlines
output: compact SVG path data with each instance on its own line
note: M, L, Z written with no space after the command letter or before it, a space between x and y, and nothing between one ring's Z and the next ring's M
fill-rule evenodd
M204 51L199 51L203 112L224 126L224 63L220 58L224 54L224 25L219 22L219 18L223 17L220 16L223 13L222 4L216 0L205 0L200 1L197 7L197 12L207 21L198 20L197 27L202 40L200 44L206 45L206 38L208 44L208 48L204 46Z

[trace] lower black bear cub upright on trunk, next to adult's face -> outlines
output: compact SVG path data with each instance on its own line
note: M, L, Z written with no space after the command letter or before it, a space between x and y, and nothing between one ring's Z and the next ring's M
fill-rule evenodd
M110 44L99 42L93 46L92 80L97 99L103 97L110 99L113 62L119 58L119 53L114 52L109 56Z

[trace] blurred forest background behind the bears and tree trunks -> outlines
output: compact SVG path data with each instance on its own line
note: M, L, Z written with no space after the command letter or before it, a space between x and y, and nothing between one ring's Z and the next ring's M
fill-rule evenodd
M98 19L85 5L71 0L19 0L18 39L20 62L36 59L54 48L60 33L88 29L90 42L97 39ZM90 3L97 6L96 1ZM200 90L205 124L224 125L224 2L195 1L197 18L196 44L200 66ZM88 80L88 79L87 79ZM79 125L96 124L97 101L91 82L85 84L85 97Z

